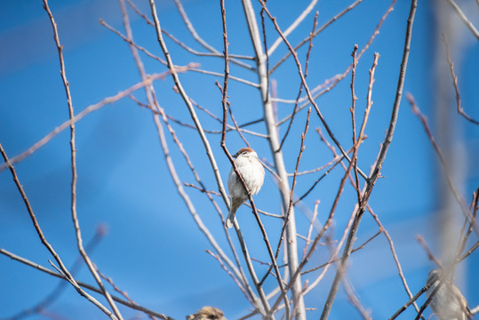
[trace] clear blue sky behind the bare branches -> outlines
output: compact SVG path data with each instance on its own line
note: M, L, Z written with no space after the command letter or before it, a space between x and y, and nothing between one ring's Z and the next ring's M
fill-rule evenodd
M149 16L146 2L135 3ZM315 11L319 11L318 24L323 25L349 3L351 2L320 1L315 7ZM76 113L140 82L127 44L99 23L99 19L103 19L124 32L116 1L56 0L50 1L49 4L58 23L60 42L64 45L67 76ZM259 12L259 5L255 2L253 4ZM350 53L354 44L358 44L360 50L363 48L388 5L389 2L364 0L355 10L347 13L315 38L307 77L311 87L347 68L351 62ZM359 165L365 172L369 172L387 130L395 99L409 5L409 2L403 1L395 4L395 10L389 14L379 35L357 66L355 94L358 96L356 108L360 121L369 81L368 70L371 68L374 52L379 52L372 96L374 104L366 129L368 140L359 151ZM156 6L162 28L196 50L203 51L188 34L172 1L159 1ZM184 2L184 6L198 34L222 51L220 5L214 1L190 0ZM306 2L268 3L270 11L277 17L283 29L287 28L306 6ZM3 93L0 104L0 143L12 157L66 121L68 106L60 79L52 27L41 2L7 0L3 7L0 12L0 88ZM161 57L155 30L148 27L132 10L129 13L135 41ZM477 19L476 11L471 11L470 14L473 18L475 14ZM313 16L314 13L288 37L291 44L298 43L308 34ZM259 16L257 18L259 19ZM227 19L230 52L251 55L251 43L239 2L227 4ZM460 24L459 26L464 28ZM270 24L267 28L268 35L271 35L267 41L272 44L277 34ZM433 68L435 59L441 56L440 52L443 50L442 46L435 47L435 36L438 32L431 4L419 2L404 92L414 95L419 108L428 116L433 132L443 130L434 122L438 92ZM468 114L479 118L479 110L475 108L479 100L475 79L479 72L479 45L466 28L463 37L464 46L460 52L452 52L452 58L456 61L463 107ZM204 69L216 72L223 70L221 59L193 56L168 39L166 44L172 53L173 62L177 65L195 61L200 62ZM285 52L287 48L280 45L271 57L272 63L279 60ZM306 48L299 50L299 58L303 62L305 54ZM143 55L141 57L148 73L164 71L164 66L156 60ZM231 66L231 75L257 81L254 73L234 65ZM277 81L279 98L295 99L299 90L299 76L292 60L278 68L272 78ZM188 73L181 74L180 80L193 100L220 116L221 95L214 82L218 80L221 83L221 77ZM350 75L334 90L317 100L336 137L347 148L351 146L349 84ZM166 78L155 85L159 102L167 114L190 124L187 108L180 96L172 91L172 79ZM262 108L258 91L233 81L230 81L229 85L228 95L236 121L245 123L260 118ZM452 87L449 89L452 92ZM145 101L141 91L136 92L135 97ZM451 100L450 104L453 111L455 101ZM287 116L291 108L291 105L278 104L278 118ZM299 150L299 134L304 128L305 111L298 114L291 129L292 133L284 146L284 153L288 155L285 158L286 167L290 172L293 171ZM200 111L197 112L205 128L220 130L218 122ZM464 172L461 190L469 202L479 181L479 134L476 125L467 123L455 112L451 112L451 115L451 123L455 128L453 145L457 148L454 149L453 159ZM177 124L172 125L207 188L217 190L196 132ZM329 149L324 147L315 133L316 127L323 130L313 112L300 171L313 169L331 160ZM255 124L251 126L251 130L266 132L264 124ZM281 127L281 136L284 130L284 126ZM220 135L208 137L225 183L229 163L220 149ZM257 137L247 138L251 146L258 151L259 157L272 163L267 142ZM78 254L69 213L71 171L68 140L68 130L61 132L33 156L15 167L45 236L59 252L62 260L70 265ZM180 178L193 182L193 176L170 136L168 142L172 157L178 159ZM235 133L228 133L227 145L234 153L237 148L243 147L243 141ZM100 224L108 226L108 235L92 253L92 260L102 272L111 276L115 283L139 304L177 319L194 313L204 305L221 308L228 319L238 318L248 312L251 306L242 292L220 268L217 260L205 252L212 247L196 227L172 184L163 151L158 143L156 127L148 109L140 108L132 100L124 99L95 111L76 125L76 148L79 177L77 208L84 241L94 235ZM428 270L433 267L415 236L424 236L433 251L439 252L436 217L441 204L437 190L440 169L419 120L412 115L410 106L403 99L395 137L381 172L385 178L377 182L370 204L395 241L398 257L413 293L419 291ZM297 210L300 232L304 233L308 228L307 216L311 214L315 200L321 201L319 217L324 222L342 175L342 169L338 167L305 199L304 207L309 210ZM315 179L317 176L300 178L297 194L303 194ZM212 205L195 189L187 188L187 191L204 223L217 235L219 243L226 246L218 214ZM278 199L275 182L271 175L267 175L265 186L255 197L255 202L267 212L279 213ZM337 209L335 239L340 237L354 207L354 201L355 190L347 187ZM225 212L224 204L220 199L218 202ZM454 210L459 214L457 208ZM281 225L277 220L264 219L270 239L274 239L272 241L276 243ZM245 206L238 212L238 220L248 239L251 256L267 260L259 229ZM375 222L369 215L365 215L357 243L362 243L377 230ZM231 236L236 239L233 234ZM474 235L472 238L471 241L477 240ZM303 244L304 242L299 240L300 250ZM36 236L8 171L0 172L0 247L50 267L48 259L52 257ZM327 254L327 247L320 246L310 266L321 264L327 259ZM479 303L479 278L470 271L477 268L478 263L477 254L471 255L464 263L466 280L460 284L473 307ZM255 265L255 268L263 270L259 265ZM58 281L6 257L0 257L0 270L4 275L0 285L0 301L6 302L0 303L0 318L12 316L31 307L44 298ZM323 284L307 296L307 307L320 310L323 308L333 275L331 269ZM391 316L407 300L384 236L374 239L366 249L353 255L348 276L355 285L363 306L371 309L373 318ZM93 283L86 268L82 269L77 277ZM274 285L274 279L269 279L265 290L269 292ZM71 319L102 316L72 288L68 288L49 310ZM136 314L131 310L122 310L124 316L131 317ZM311 318L317 318L319 315L320 311L311 311ZM402 318L409 319L413 315L414 313L408 310ZM42 319L44 316L31 318ZM348 303L342 287L339 288L330 318L360 318Z

